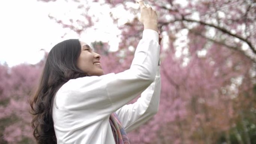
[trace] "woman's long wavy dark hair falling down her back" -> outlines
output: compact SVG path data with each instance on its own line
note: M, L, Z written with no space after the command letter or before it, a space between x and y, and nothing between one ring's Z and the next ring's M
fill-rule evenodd
M57 144L52 119L53 98L68 80L88 76L77 67L80 53L79 40L70 39L55 45L48 54L37 91L30 99L31 125L37 144Z

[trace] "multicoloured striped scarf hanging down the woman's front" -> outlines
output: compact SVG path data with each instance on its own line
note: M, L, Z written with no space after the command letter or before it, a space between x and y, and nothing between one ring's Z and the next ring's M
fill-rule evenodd
M127 134L118 119L116 113L112 113L109 117L109 123L114 135L116 144L130 144Z

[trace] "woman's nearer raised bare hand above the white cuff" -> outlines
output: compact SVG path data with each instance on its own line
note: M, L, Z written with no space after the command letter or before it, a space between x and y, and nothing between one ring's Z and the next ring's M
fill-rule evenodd
M144 24L144 29L151 29L158 31L157 24L158 24L158 16L156 11L152 9L151 6L148 4L145 6L143 0L137 0L140 4L140 22Z

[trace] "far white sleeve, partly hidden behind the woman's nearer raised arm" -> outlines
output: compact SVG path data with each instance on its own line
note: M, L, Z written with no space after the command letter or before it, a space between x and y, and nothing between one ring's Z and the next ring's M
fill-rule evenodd
M159 107L161 76L159 67L153 83L142 92L133 104L124 105L116 111L126 132L132 131L153 117Z

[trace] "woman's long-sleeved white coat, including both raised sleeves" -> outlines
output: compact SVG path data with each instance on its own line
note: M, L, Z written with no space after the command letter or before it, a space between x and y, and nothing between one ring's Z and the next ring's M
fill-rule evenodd
M58 90L52 111L58 144L115 144L111 113L116 112L126 132L156 114L161 89L158 37L154 30L143 31L128 70L71 79ZM139 94L137 102L127 105Z

